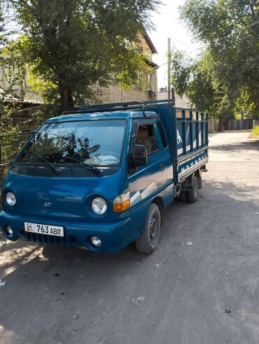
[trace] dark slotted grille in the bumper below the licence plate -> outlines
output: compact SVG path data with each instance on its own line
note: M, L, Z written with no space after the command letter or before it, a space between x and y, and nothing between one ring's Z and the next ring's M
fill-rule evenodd
M22 238L34 241L34 242L42 242L43 244L51 244L51 245L59 245L59 246L70 246L74 242L76 242L76 238L74 237L55 237L52 235L42 235L36 233L29 233L25 231L20 231L20 235Z

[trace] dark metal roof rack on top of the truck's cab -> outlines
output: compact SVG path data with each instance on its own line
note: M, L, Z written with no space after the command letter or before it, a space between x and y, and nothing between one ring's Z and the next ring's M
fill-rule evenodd
M66 111L62 115L71 115L75 113L94 113L99 111L128 111L128 110L140 110L146 117L145 111L155 111L159 113L155 104L159 103L172 103L172 99L165 100L148 100L146 102L122 102L113 104L99 104L99 105L83 105L76 106L76 111Z

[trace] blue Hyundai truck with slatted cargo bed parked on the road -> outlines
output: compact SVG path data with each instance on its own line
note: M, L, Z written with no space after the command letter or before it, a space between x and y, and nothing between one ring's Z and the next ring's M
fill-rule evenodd
M45 121L1 186L8 240L118 252L158 246L162 212L196 202L208 162L208 113L172 100L82 106Z

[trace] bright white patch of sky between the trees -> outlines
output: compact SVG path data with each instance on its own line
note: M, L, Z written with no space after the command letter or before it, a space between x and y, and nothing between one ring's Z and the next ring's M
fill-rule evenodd
M172 48L175 46L186 51L190 57L197 55L202 45L194 41L190 32L179 19L179 6L183 6L185 0L162 0L158 13L151 19L156 26L155 31L148 32L154 43L158 55L153 56L153 61L159 66L167 62L167 41L171 39ZM183 43L180 43L183 42ZM167 64L158 69L158 89L167 85Z

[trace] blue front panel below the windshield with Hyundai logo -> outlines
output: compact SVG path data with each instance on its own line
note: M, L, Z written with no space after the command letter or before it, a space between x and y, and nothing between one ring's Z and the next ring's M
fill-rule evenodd
M4 202L8 191L15 194L14 207ZM30 216L39 216L89 222L97 219L91 209L92 199L101 196L106 200L108 209L104 216L98 218L113 221L117 215L113 213L112 204L120 193L123 193L123 170L92 178L34 177L9 172L2 190L3 210L28 216L28 221Z

